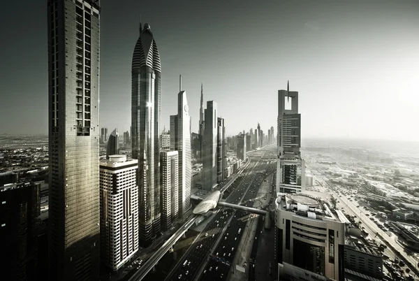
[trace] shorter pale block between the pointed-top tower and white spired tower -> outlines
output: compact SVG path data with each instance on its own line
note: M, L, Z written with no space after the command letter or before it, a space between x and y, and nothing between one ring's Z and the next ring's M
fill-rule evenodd
M178 202L178 152L166 150L160 152L160 200L161 228L168 230L177 219Z

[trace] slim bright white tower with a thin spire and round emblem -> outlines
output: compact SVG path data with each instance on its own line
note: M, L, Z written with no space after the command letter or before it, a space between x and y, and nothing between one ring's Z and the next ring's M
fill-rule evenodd
M180 83L182 87L182 82ZM179 217L191 208L191 132L189 126L189 106L186 99L186 92L179 89L177 94L177 115L170 116L170 149L179 152L179 172L177 173Z

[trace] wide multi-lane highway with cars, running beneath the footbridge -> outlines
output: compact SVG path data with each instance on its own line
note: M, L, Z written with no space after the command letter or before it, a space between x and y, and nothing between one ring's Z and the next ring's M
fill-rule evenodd
M258 152L262 157L270 153L272 152L260 150ZM249 166L243 171L243 175L237 178L230 188L232 191L226 202L238 204L244 201L247 203L244 203L243 206L251 207L253 205L250 199L256 196L260 183L266 177L267 168L273 169L275 166L269 159L263 161L259 159L259 155L252 157ZM238 230L245 226L245 222L242 222L240 218L247 215L249 213L244 211L219 210L193 241L189 250L179 259L166 280L207 280L207 278L213 280L216 277L225 280L240 242ZM210 264L214 264L214 268L211 268ZM204 267L208 268L207 271Z

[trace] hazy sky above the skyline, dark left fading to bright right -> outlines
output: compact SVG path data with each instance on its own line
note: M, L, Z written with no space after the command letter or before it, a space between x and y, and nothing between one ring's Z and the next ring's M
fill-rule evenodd
M47 134L47 1L4 1L0 134ZM302 136L419 141L419 1L101 1L101 127L131 124L138 22L161 55L161 129L179 73L198 131L204 101L228 135L277 128L277 90L300 94Z

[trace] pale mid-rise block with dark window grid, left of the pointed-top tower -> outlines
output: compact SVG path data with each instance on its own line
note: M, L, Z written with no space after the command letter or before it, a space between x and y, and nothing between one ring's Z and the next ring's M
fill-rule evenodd
M112 271L139 247L137 169L138 160L126 155L112 154L100 163L101 259Z

